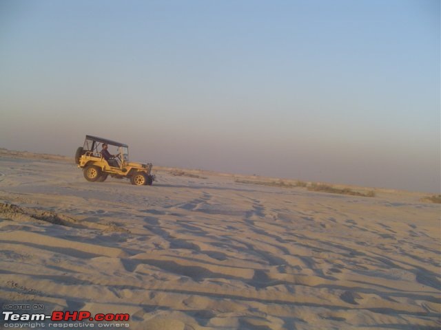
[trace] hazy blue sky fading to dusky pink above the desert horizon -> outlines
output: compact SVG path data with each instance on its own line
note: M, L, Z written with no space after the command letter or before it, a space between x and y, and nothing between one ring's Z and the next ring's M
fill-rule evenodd
M0 0L0 147L440 191L440 1Z

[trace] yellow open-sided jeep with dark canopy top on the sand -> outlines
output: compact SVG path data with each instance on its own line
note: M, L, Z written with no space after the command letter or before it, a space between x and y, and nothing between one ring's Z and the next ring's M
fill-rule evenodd
M103 144L118 148L117 155L103 155ZM105 159L107 157L107 160ZM83 168L86 180L103 182L107 176L130 179L136 186L152 186L152 164L129 162L129 146L120 142L103 139L92 135L85 135L84 145L76 149L75 162Z

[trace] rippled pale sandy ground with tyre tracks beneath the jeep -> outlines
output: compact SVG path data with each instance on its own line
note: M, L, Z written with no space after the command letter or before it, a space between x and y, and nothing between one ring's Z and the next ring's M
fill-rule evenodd
M441 327L427 194L164 169L151 187L90 183L63 157L25 156L0 155L3 305L127 313L130 329Z

